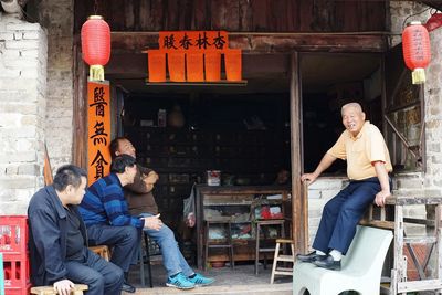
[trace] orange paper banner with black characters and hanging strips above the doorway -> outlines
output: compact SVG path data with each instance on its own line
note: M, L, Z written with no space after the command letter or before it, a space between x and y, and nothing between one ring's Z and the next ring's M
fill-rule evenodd
M219 82L222 54L225 78L242 80L241 50L229 49L225 31L162 31L158 43L147 51L149 82L166 82L166 65L171 82Z

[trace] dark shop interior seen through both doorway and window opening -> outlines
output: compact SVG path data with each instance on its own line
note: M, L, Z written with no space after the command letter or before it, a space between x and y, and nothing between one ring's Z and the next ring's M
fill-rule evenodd
M358 101L368 119L379 117L380 91L364 103L364 87L380 59L301 56L303 170L312 171L343 130L344 103ZM180 222L192 183L206 183L208 170L220 170L227 186L272 185L278 170L291 170L288 64L288 55L244 55L246 83L238 85L152 85L115 77L124 91L123 134L135 144L138 160L159 173L155 196L171 226ZM345 162L336 161L327 172L344 176Z

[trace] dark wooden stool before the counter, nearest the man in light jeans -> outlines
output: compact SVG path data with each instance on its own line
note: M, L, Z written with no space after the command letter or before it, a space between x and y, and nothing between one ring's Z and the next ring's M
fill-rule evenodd
M217 249L217 247L223 247L227 249L229 252L229 259L230 259L230 267L233 270L234 268L234 260L233 260L233 243L232 243L232 230L231 230L231 219L222 219L222 220L206 220L206 226L204 226L204 263L203 263L203 268L206 271L207 268L207 263L208 263L208 257L209 257L209 249ZM209 229L210 225L212 224L221 224L222 226L227 228L225 231L225 242L223 243L210 243L209 239Z

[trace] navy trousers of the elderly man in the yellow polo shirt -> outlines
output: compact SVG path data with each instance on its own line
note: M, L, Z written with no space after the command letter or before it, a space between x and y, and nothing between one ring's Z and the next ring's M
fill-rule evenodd
M324 253L335 249L345 255L355 236L356 225L380 189L377 177L350 181L325 204L313 249Z

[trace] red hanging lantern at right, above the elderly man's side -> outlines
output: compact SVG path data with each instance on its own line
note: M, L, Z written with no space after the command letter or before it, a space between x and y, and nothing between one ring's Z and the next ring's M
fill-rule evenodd
M412 71L412 83L425 82L425 67L431 60L430 36L420 22L411 22L402 33L403 60Z

